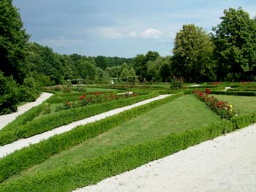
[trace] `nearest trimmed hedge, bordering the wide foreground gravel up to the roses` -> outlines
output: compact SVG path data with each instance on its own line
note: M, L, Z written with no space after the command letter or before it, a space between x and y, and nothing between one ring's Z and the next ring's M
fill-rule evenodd
M129 146L123 150L83 161L80 164L27 175L19 180L3 183L0 185L0 191L72 191L232 130L232 123L222 120L222 122L205 128L170 134L162 139Z

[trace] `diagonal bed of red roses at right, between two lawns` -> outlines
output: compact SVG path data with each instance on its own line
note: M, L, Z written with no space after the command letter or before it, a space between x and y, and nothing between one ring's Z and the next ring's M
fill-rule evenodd
M219 101L214 96L208 96L211 93L208 88L206 88L206 92L195 90L193 93L198 99L200 99L200 101L203 101L206 106L216 112L217 115L220 115L221 118L230 120L236 115L236 112L232 109L232 105L228 105L227 101Z

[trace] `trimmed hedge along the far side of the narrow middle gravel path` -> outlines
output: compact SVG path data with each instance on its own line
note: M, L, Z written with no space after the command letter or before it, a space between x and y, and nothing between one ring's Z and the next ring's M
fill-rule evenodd
M0 146L14 142L17 139L27 138L34 136L35 134L41 134L45 131L50 131L53 128L67 125L76 120L88 118L92 115L97 115L102 112L116 109L118 107L124 107L129 104L135 104L138 101L151 99L158 96L158 93L150 93L143 96L136 96L128 99L118 99L115 101L108 101L102 104L91 104L85 107L72 108L53 114L47 114L41 118L35 118L29 123L22 125L7 126L0 130Z

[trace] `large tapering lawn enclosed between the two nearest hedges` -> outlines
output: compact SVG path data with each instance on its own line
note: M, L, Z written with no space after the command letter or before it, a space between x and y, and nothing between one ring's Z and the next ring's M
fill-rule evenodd
M219 117L208 110L194 96L182 96L133 120L129 120L121 126L112 128L98 137L55 155L44 163L13 176L9 180L17 179L26 174L56 169L59 166L78 164L85 159L96 158L128 145L159 139L187 129L207 126L217 120L219 120ZM5 182L8 182L8 180Z

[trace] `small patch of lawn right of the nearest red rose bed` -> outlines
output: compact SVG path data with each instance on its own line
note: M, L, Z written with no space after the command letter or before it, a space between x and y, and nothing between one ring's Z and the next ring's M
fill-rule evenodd
M256 112L255 96L214 96L221 101L227 101L227 104L231 104L233 109L238 111L239 115L249 115L252 112Z

